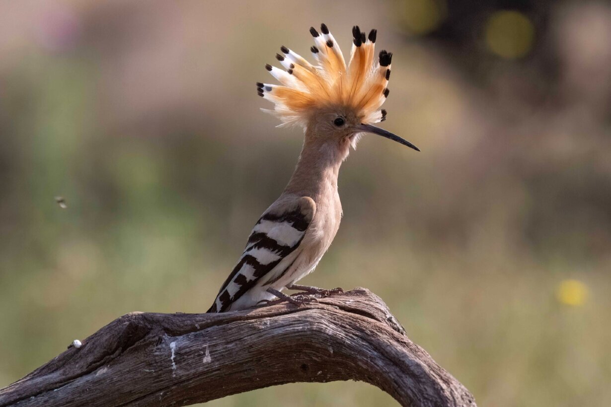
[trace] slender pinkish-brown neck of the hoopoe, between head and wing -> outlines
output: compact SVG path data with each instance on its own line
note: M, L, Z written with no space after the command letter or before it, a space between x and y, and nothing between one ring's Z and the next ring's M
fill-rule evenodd
M337 194L337 176L342 161L348 155L348 143L338 145L306 131L305 141L287 193L310 196L316 203Z

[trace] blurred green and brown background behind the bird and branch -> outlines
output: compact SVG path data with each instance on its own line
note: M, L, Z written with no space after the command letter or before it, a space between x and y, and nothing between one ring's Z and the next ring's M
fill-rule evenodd
M302 143L255 82L324 22L394 53L321 287L380 295L481 406L611 405L611 6L0 2L0 387L130 311L203 312ZM56 203L65 199L67 207ZM396 405L363 383L211 406Z

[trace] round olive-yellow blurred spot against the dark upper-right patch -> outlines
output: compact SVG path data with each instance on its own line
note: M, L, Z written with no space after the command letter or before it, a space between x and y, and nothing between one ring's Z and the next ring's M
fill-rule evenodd
M506 59L517 59L529 53L535 40L535 27L520 12L503 10L486 21L486 45Z

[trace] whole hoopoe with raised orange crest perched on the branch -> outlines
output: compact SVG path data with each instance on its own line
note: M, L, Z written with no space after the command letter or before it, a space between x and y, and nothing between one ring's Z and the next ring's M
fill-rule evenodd
M280 197L258 219L246 247L207 312L227 312L289 301L305 304L342 292L296 284L311 273L331 245L342 219L337 178L349 149L363 134L375 134L420 151L392 132L374 126L386 120L380 109L389 95L392 52L376 56L377 31L352 30L350 59L321 24L310 27L315 64L280 47L284 69L265 65L277 84L257 82L257 94L274 104L261 109L280 120L278 127L299 126L304 143L295 171ZM284 289L301 294L287 295Z

